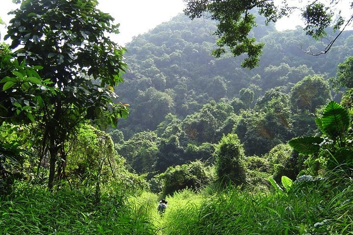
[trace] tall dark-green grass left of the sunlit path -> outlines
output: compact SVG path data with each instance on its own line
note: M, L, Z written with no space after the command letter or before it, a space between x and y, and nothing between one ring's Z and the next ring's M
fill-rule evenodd
M95 203L93 194L17 185L0 201L1 235L152 235L148 214L109 197Z

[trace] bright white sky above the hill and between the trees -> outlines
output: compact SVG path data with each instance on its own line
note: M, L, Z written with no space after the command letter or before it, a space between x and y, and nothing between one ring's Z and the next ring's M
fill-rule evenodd
M184 9L183 0L99 0L99 2L98 8L109 13L115 18L115 23L120 24L120 34L112 36L112 40L122 46L130 42L132 37L171 20ZM11 19L7 12L17 7L19 5L12 3L12 0L0 0L0 17L6 24ZM302 24L299 14L293 14L290 18L279 20L276 28L279 31L295 29L298 24ZM4 25L0 25L0 33L3 41L6 34Z

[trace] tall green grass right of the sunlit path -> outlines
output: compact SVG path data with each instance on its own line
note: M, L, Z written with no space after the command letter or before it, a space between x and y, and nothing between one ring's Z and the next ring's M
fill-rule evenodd
M168 235L353 234L353 182L337 177L295 185L280 195L228 188L176 200L163 218ZM178 198L179 195L176 195ZM196 202L196 203L195 203Z

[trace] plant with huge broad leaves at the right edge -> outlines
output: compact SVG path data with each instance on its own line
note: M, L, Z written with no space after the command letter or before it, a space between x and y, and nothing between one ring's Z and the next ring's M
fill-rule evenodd
M348 111L331 101L322 118L316 118L315 122L323 133L322 137L299 137L289 141L289 145L305 155L328 153L329 169L340 164L352 164L351 117Z

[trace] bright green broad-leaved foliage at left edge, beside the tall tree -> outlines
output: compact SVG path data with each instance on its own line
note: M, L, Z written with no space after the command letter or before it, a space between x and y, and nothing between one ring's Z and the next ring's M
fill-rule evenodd
M50 80L37 73L42 66L30 67L19 63L6 44L0 45L0 124L3 121L30 123L47 95L57 91L50 88Z

